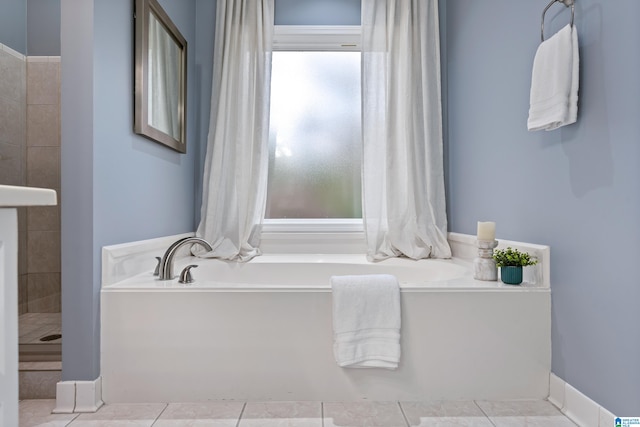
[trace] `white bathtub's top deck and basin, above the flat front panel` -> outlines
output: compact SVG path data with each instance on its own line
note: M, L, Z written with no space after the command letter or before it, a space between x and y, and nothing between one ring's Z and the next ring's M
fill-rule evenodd
M330 277L345 274L392 274L400 286L422 288L434 286L473 286L469 263L461 260L388 259L370 263L364 255L353 254L277 254L256 257L248 263L216 259L183 258L176 263L178 274L187 265L195 282L159 281L151 271L114 284L111 288L140 289L252 289L252 290L322 290L328 289ZM495 287L495 283L491 287ZM476 285L477 286L477 285Z

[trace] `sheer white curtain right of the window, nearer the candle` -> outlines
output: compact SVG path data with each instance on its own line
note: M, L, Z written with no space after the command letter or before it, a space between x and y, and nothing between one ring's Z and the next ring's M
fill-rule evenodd
M363 0L362 33L367 256L449 258L438 1Z

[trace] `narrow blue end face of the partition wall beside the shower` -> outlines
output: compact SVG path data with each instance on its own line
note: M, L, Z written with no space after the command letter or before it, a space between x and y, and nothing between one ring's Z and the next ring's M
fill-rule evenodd
M61 2L62 378L99 372L93 237L93 2Z

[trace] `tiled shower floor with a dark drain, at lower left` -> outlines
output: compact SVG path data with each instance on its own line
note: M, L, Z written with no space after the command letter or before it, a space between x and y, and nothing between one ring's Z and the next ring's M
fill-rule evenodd
M22 314L18 319L20 361L59 361L62 338L56 335L61 335L61 322L60 313Z

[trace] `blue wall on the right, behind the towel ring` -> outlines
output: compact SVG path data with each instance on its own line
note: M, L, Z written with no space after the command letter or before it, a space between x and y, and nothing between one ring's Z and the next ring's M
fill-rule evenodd
M546 0L448 0L450 229L551 246L553 372L640 413L640 2L580 0L578 122L526 130ZM556 5L548 34L569 22ZM527 331L522 331L526 334Z

